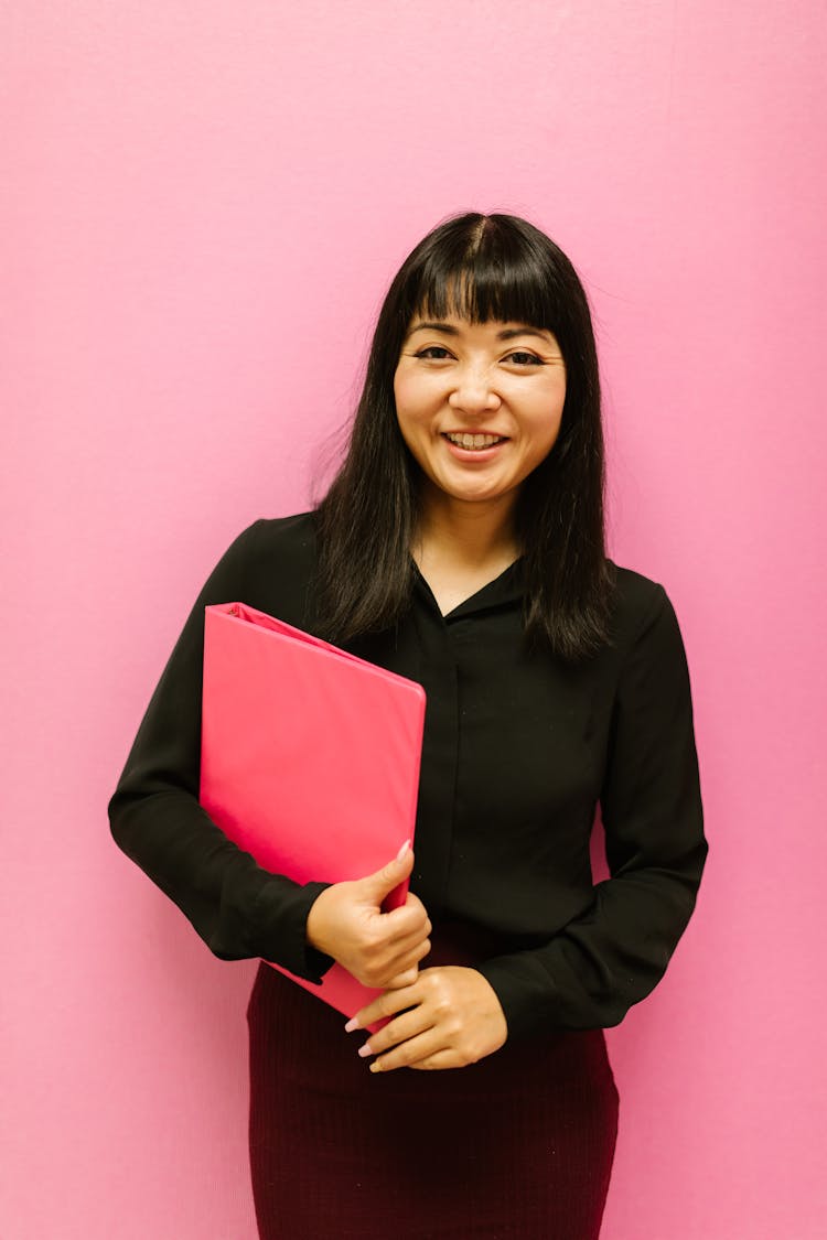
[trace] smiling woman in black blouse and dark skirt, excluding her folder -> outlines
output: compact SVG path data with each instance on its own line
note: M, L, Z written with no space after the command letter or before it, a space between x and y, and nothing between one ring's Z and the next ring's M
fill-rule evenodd
M203 608L233 599L425 687L415 861L296 887L200 808ZM681 635L662 587L605 556L589 310L543 233L466 215L405 260L337 479L219 562L110 816L222 959L314 980L336 959L384 988L347 1028L389 1022L353 1045L259 968L263 1238L598 1236L617 1102L603 1029L661 977L705 842Z

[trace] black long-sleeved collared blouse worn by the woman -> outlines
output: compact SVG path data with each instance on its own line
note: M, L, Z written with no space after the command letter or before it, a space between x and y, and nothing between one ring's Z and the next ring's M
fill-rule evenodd
M201 591L109 805L120 847L224 960L319 980L322 883L260 869L198 805L203 609L317 631L312 515L258 521ZM520 564L443 616L417 575L393 631L350 647L424 686L413 889L441 957L472 963L510 1038L617 1024L661 978L707 853L681 634L662 587L617 569L613 642L572 667L522 640ZM381 760L381 754L377 754ZM611 878L593 884L595 811ZM423 965L428 965L424 961Z

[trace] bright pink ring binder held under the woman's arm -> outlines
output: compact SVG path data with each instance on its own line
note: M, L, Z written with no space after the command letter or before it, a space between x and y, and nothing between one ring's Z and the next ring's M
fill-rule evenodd
M414 681L243 603L206 608L201 804L264 869L363 878L413 839L424 714ZM347 1016L379 993L337 963L321 986L280 971Z

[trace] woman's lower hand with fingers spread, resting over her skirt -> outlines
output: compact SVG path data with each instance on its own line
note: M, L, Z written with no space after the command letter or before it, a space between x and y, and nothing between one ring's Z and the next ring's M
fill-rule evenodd
M347 1022L363 1029L391 1017L360 1055L374 1055L372 1073L394 1068L465 1068L497 1050L508 1027L492 986L476 968L422 968L413 986L388 990Z

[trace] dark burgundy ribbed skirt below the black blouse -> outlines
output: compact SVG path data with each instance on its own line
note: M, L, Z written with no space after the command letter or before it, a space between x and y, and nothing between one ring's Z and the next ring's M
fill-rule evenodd
M374 1075L366 1034L267 965L248 1023L260 1240L596 1240L617 1131L601 1030Z

